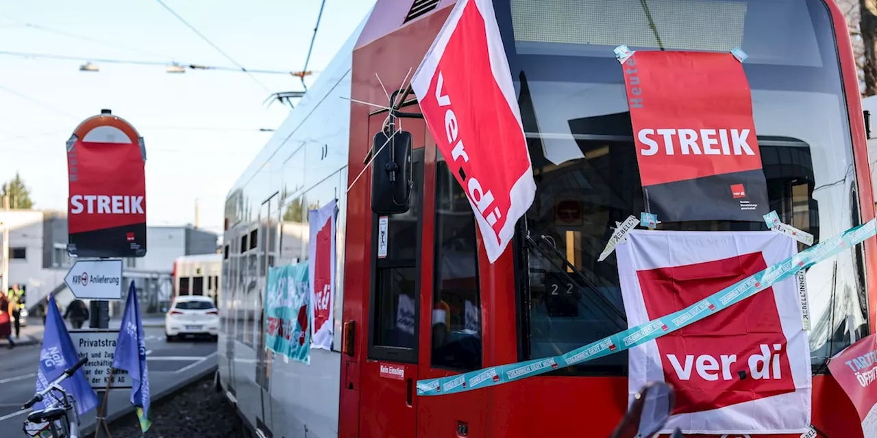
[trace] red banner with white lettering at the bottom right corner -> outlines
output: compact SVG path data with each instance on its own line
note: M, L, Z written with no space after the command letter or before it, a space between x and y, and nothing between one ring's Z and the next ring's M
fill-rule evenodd
M865 438L877 438L877 335L853 343L828 363L862 422Z

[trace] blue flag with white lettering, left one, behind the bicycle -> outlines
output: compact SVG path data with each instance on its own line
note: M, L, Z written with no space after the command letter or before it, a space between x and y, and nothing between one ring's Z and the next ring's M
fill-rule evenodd
M43 347L39 351L39 370L37 371L37 392L46 389L54 379L60 378L61 374L71 366L79 362L79 355L67 326L58 311L58 305L54 297L49 295L49 306L46 309L46 330L43 333ZM76 400L76 412L80 415L89 412L100 403L95 390L91 389L89 380L85 378L85 371L80 368L75 374L64 379L61 383L64 391ZM46 397L46 401L52 400ZM50 404L52 402L49 402ZM46 404L39 402L33 405L34 410L44 409Z

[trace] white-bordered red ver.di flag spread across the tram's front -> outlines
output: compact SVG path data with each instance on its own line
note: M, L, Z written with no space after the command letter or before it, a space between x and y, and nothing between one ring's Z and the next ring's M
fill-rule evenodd
M707 297L797 253L795 240L771 231L634 230L627 239L617 258L631 327L689 306L695 307L675 315L674 323L715 312ZM631 396L648 381L674 386L667 428L687 434L808 430L809 343L794 277L629 354Z

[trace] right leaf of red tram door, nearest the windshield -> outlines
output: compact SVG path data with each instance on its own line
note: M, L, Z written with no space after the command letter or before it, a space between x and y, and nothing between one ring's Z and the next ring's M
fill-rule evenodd
M418 378L479 370L482 362L477 226L472 207L445 157L426 133L423 202L424 268L420 286ZM488 436L487 391L422 397L417 437Z

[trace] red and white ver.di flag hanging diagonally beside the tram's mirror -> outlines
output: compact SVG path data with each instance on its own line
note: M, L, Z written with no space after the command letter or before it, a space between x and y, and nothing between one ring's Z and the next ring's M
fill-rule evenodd
M536 182L491 1L457 2L411 86L493 263L530 208Z

